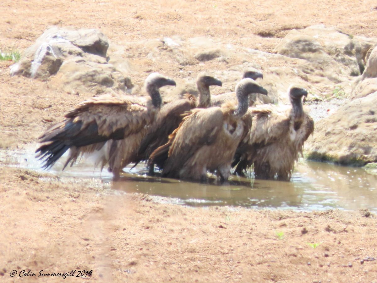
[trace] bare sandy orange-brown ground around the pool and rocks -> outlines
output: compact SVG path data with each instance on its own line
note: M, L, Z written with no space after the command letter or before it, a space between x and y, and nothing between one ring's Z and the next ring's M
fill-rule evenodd
M48 26L58 25L98 28L118 45L179 34L270 52L290 29L317 23L375 36L376 5L371 0L4 0L0 49L22 52ZM172 77L179 70L151 65L143 56L130 59L135 82L147 69ZM3 150L35 142L64 112L92 96L67 94L56 79L11 78L9 65L0 63ZM200 68L205 66L185 71ZM76 270L75 275L93 270L89 280L100 282L377 280L377 260L371 260L377 257L377 218L367 212L193 209L114 194L111 184L98 179L62 180L0 161L1 281L63 280L37 277L40 270ZM284 234L279 238L276 232ZM10 277L13 270L36 276Z

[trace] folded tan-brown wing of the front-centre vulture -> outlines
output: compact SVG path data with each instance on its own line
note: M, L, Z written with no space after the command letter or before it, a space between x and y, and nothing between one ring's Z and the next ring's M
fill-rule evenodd
M215 141L223 127L223 120L224 116L219 107L193 109L187 112L182 123L169 136L169 141L153 152L152 161L159 154L166 157L169 150L162 174L175 175L201 146L210 145Z

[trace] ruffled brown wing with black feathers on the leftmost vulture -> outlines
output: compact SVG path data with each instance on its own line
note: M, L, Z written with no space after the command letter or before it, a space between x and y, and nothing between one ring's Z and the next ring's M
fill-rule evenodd
M138 100L126 96L90 98L68 112L64 121L47 129L40 137L40 142L45 144L36 152L44 159L44 168L51 167L71 147L119 140L140 131L150 124L152 112Z

